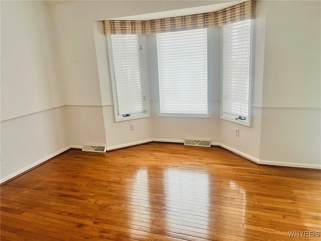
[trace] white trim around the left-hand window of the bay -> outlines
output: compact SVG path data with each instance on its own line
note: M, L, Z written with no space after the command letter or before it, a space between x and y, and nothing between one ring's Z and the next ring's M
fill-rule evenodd
M117 105L117 90L116 90L116 79L115 79L115 70L114 70L114 60L112 53L112 44L111 44L111 35L107 35L107 48L108 48L108 59L109 59L109 69L111 77L111 87L112 87L112 97L113 97L113 106L114 106L114 117L115 122L130 121L131 119L145 118L150 117L150 108L149 108L149 96L148 96L148 81L146 80L146 43L145 38L141 35L137 35L141 43L141 74L142 82L144 85L144 94L145 94L145 113L131 113L130 116L122 116L118 114L118 105Z

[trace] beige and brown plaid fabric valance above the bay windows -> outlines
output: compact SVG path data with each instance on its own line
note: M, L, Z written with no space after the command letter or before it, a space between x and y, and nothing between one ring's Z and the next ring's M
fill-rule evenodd
M158 34L219 27L255 18L255 1L248 1L217 12L146 21L105 20L107 34Z

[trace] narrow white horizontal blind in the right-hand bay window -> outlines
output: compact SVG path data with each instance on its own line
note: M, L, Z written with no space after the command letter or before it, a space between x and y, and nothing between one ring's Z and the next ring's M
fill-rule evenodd
M251 20L223 27L223 115L249 115Z

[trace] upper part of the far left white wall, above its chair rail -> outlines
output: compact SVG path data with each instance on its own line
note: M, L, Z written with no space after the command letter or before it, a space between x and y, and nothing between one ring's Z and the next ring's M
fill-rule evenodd
M2 119L64 104L46 3L1 6Z

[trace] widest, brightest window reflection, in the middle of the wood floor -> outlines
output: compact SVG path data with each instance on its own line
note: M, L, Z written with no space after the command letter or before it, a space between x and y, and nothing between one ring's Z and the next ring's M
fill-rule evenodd
M165 170L164 180L168 223L175 219L176 223L183 224L179 226L181 229L207 234L210 205L208 174L170 168ZM185 226L186 222L195 228ZM197 228L198 224L201 228Z

